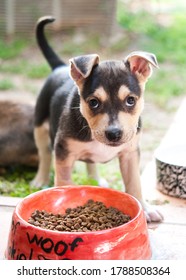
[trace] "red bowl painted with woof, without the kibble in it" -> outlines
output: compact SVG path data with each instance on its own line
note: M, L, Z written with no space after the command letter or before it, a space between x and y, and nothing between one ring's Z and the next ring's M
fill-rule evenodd
M54 214L87 200L101 201L131 216L124 225L91 232L60 232L33 226L36 209ZM9 260L149 259L151 248L141 204L132 196L93 186L53 187L25 197L15 208L5 258Z

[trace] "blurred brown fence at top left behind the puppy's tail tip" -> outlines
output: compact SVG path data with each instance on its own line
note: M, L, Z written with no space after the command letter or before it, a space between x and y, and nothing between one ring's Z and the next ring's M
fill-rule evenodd
M53 15L54 29L81 27L109 34L116 0L0 0L0 36L33 32L39 17Z

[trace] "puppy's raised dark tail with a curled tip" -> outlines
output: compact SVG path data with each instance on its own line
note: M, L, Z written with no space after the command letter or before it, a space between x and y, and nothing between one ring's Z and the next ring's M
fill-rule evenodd
M56 69L59 66L66 65L58 56L57 54L53 51L53 49L49 46L45 34L44 34L44 27L46 24L51 23L55 21L55 19L52 16L45 16L41 17L36 25L36 39L37 43L48 61L50 67L52 70Z

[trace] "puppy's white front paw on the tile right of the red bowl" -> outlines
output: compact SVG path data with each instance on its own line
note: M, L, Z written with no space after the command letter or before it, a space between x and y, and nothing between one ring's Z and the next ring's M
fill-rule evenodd
M145 216L147 219L147 222L162 222L163 221L163 215L160 211L158 211L154 206L150 206L147 203L142 202L142 206L145 212Z

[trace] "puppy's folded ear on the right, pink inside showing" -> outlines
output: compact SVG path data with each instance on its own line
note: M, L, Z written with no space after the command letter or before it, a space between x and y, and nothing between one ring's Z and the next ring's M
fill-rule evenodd
M151 66L158 68L156 56L148 52L132 52L126 57L125 63L129 65L130 71L135 74L141 82L146 82L151 76Z

